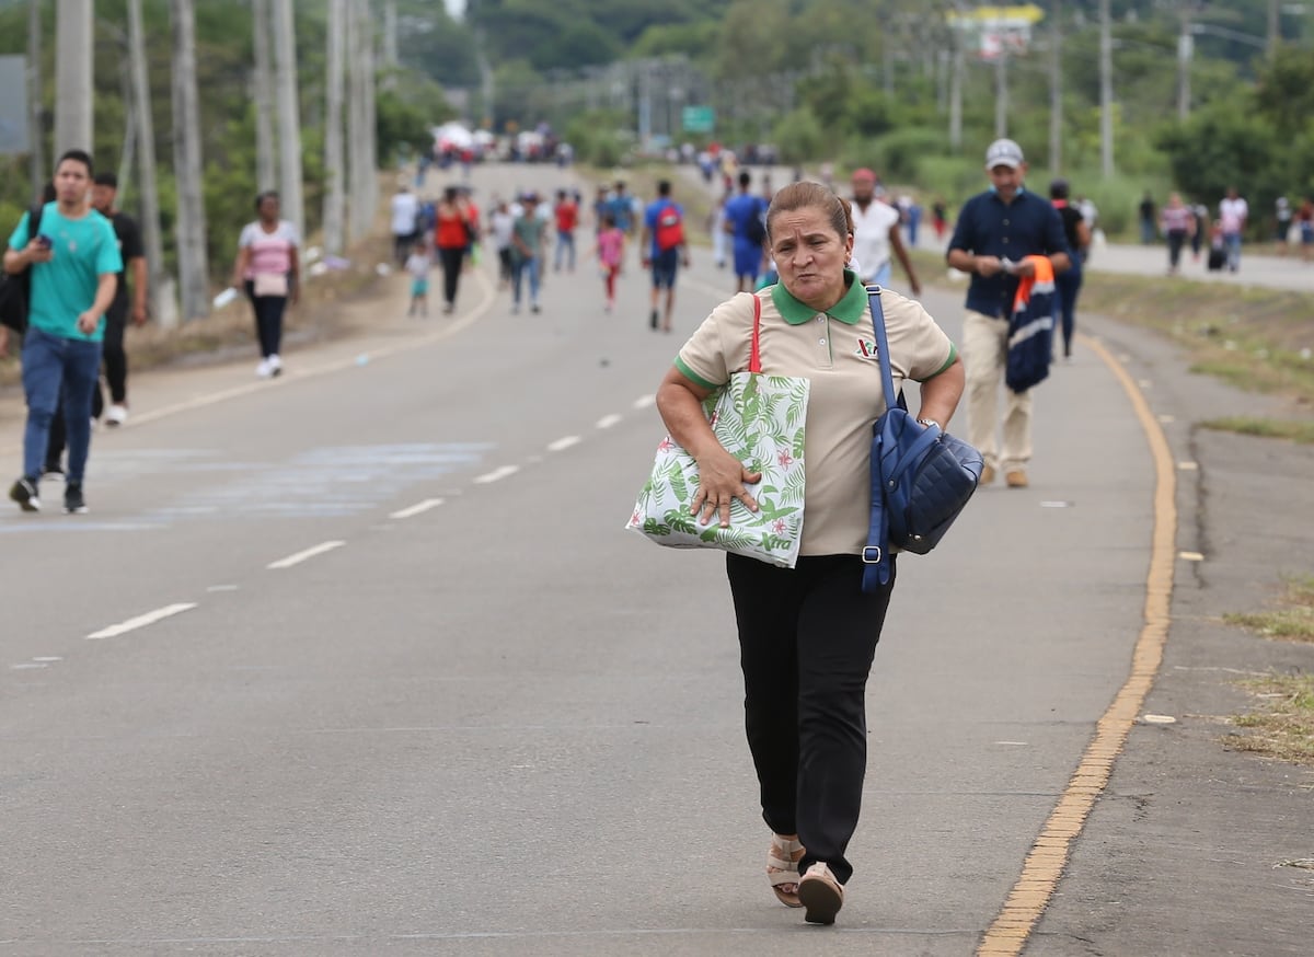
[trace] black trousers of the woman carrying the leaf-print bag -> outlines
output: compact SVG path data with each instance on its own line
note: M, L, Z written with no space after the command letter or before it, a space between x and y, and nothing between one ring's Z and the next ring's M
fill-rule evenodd
M895 577L862 592L855 555L777 568L728 555L744 669L748 745L775 833L798 833L800 870L817 861L845 883L867 772L867 674Z

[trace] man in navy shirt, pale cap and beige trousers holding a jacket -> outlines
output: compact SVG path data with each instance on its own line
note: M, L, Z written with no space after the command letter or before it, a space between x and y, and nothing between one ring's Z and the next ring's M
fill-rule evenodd
M1058 212L1043 196L1022 187L1022 149L1012 139L996 139L986 151L986 171L991 188L963 204L947 254L953 268L972 277L963 321L967 432L986 460L982 485L1003 471L1009 488L1022 489L1031 457L1030 392L1007 390L1003 444L995 442L1013 296L1018 280L1034 273L1034 266L1024 262L1026 256L1049 256L1056 273L1071 263Z

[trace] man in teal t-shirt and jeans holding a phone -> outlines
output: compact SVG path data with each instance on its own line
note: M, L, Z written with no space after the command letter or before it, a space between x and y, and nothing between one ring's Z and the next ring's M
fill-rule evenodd
M22 388L28 425L22 435L22 475L9 497L24 511L39 511L37 484L50 440L50 422L63 396L68 432L64 511L87 511L83 476L91 448L91 404L100 376L105 310L114 301L124 268L109 220L91 208L92 162L70 150L55 167L55 201L41 213L37 235L24 216L9 237L4 269L32 267L28 331L22 340Z

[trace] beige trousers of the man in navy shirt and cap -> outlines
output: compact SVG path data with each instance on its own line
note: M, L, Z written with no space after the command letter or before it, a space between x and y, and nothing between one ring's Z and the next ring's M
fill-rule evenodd
M963 364L967 367L967 440L986 464L1008 475L1031 459L1031 393L1004 389L1004 443L995 440L999 390L1008 362L1008 319L967 310Z

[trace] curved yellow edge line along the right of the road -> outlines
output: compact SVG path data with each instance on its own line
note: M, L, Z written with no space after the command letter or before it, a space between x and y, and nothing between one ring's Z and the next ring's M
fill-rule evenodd
M1154 457L1154 534L1150 571L1146 577L1144 626L1131 655L1131 673L1126 684L1096 724L1095 737L1087 745L1081 762L1063 790L1059 803L1050 812L1049 820L1031 845L1017 883L1013 885L995 923L982 937L976 948L979 957L1016 956L1026 946L1031 931L1039 923L1063 875L1072 841L1081 833L1091 808L1109 783L1113 761L1122 752L1131 726L1141 714L1146 695L1159 673L1163 648L1168 640L1177 536L1177 476L1172 452L1159 421L1150 411L1150 404L1122 364L1101 343L1085 335L1080 339L1104 360L1127 393Z

